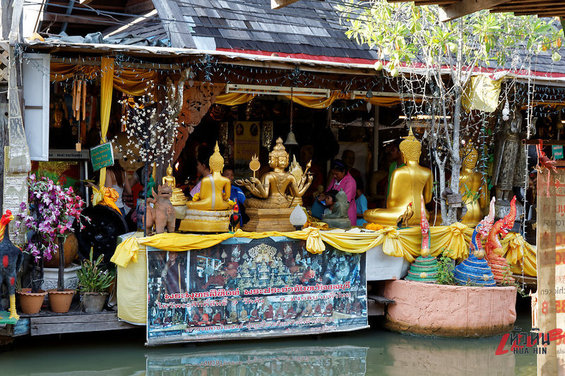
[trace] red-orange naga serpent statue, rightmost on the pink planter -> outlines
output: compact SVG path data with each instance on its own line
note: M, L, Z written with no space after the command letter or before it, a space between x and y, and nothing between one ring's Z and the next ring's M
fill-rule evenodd
M487 250L487 262L492 269L492 274L494 274L494 280L497 284L514 283L514 279L509 275L509 262L502 256L502 245L500 243L499 234L504 238L514 226L515 220L516 196L514 196L510 202L509 214L496 221L492 226L485 246Z

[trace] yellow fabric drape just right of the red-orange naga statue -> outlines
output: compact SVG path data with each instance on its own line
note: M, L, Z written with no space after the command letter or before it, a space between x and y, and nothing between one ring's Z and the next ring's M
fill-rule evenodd
M528 244L520 234L511 232L506 235L500 243L504 257L506 257L506 260L512 265L511 269L513 273L522 274L523 265L525 275L537 275L537 254L535 248Z

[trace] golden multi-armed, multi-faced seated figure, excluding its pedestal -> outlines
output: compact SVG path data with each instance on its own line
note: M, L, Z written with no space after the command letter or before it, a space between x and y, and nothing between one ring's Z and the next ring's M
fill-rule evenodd
M303 174L300 181L297 181L294 175L285 171L288 153L281 138L278 138L273 151L269 153L269 166L273 171L263 174L261 181L255 177L236 181L237 185L245 186L256 196L245 200L246 209L283 209L297 204L293 198L302 198L314 178Z

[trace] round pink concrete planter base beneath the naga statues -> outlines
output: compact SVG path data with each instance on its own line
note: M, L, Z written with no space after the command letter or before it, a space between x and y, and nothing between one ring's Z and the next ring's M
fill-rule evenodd
M512 332L516 288L387 281L385 327L430 336L480 337Z

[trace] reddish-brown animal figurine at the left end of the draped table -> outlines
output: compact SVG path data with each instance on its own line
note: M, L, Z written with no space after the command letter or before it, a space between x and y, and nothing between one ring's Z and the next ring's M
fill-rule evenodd
M149 233L150 229L155 225L155 233L162 234L165 232L174 232L174 207L171 203L172 188L171 186L159 186L157 194L153 190L153 197L148 198L147 202L153 203L153 207L147 209L147 224L146 231Z

